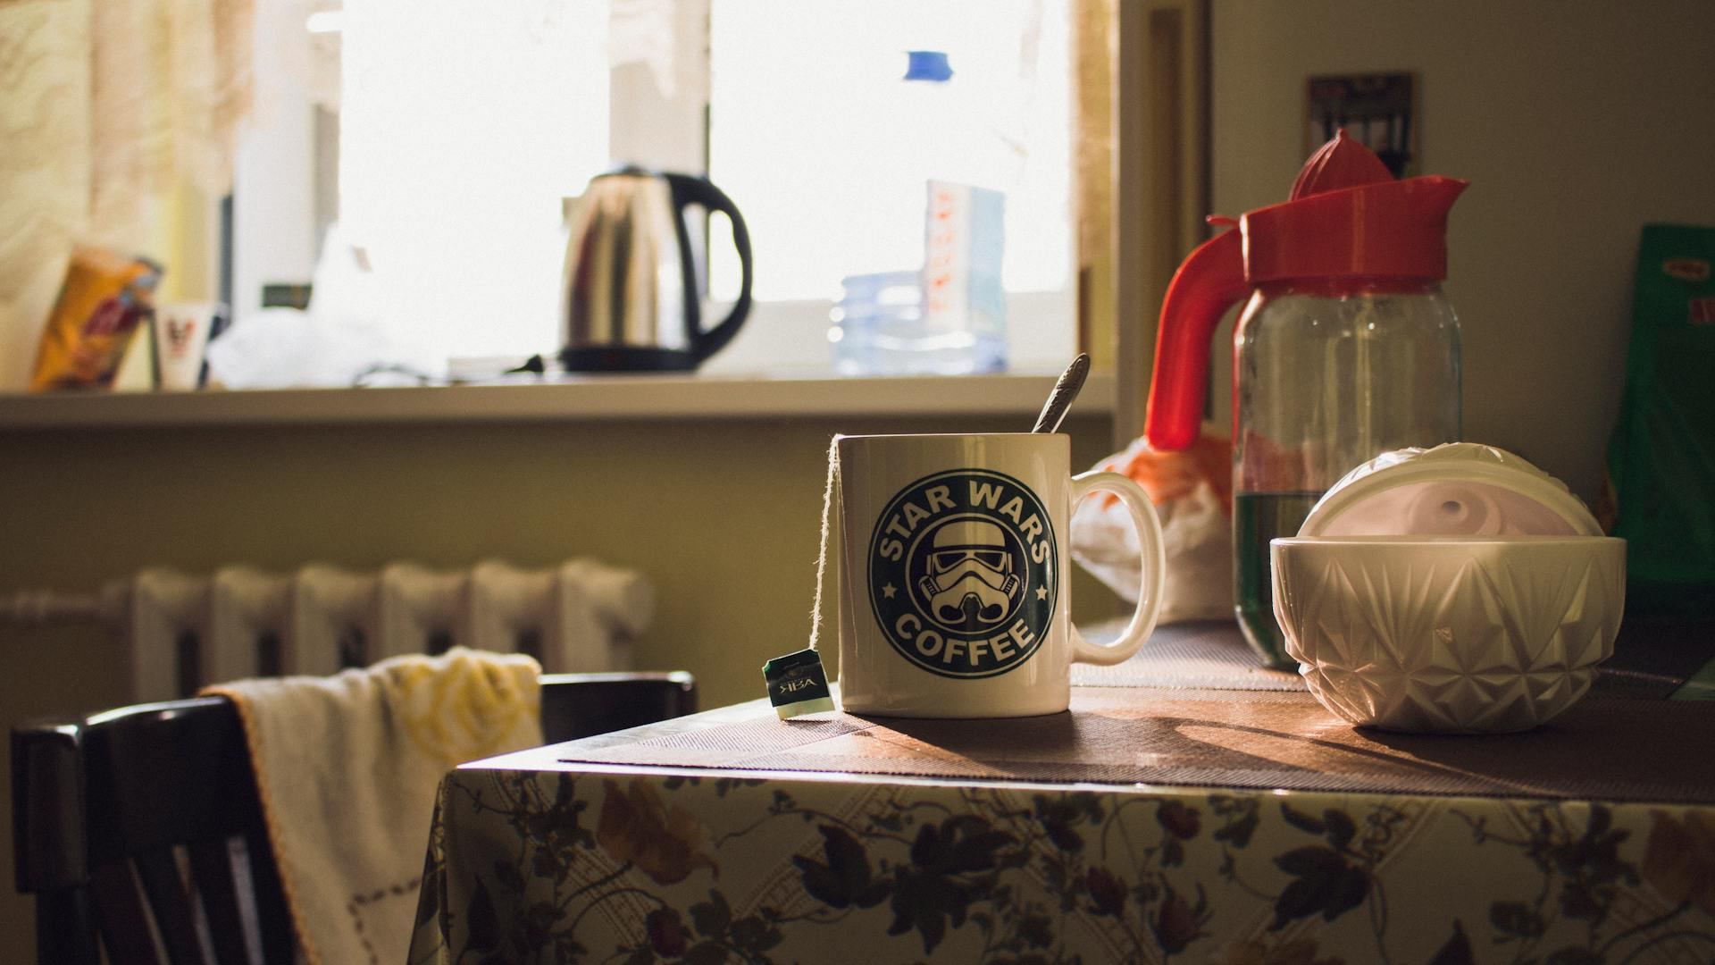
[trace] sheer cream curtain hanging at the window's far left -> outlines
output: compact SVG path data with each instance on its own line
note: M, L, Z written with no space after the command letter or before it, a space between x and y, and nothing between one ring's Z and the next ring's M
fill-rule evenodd
M77 242L161 259L168 295L213 294L250 17L252 0L0 3L0 390L27 383Z

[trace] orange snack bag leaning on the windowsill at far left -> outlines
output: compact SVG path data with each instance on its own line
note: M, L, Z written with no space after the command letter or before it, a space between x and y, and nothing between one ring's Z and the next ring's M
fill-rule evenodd
M41 331L31 391L113 385L132 335L153 311L161 266L81 246Z

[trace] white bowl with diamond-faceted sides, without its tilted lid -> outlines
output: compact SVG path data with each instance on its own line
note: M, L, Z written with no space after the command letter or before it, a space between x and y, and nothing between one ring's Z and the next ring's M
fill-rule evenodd
M1626 541L1605 536L1276 539L1274 618L1310 694L1401 731L1533 728L1614 654Z

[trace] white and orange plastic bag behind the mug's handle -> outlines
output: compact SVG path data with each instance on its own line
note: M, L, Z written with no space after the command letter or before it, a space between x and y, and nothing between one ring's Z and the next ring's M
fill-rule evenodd
M1185 452L1156 452L1144 440L1096 469L1130 476L1161 519L1168 574L1161 623L1233 618L1233 446L1200 436ZM1113 592L1137 601L1139 548L1132 519L1098 495L1072 513L1072 558Z

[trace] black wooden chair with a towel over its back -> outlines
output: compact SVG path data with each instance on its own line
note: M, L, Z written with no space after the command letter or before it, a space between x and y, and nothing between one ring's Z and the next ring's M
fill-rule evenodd
M542 678L549 742L695 709L683 671ZM98 944L113 963L163 962L154 934L163 965L292 962L244 728L225 697L14 728L12 833L41 963L98 965Z

